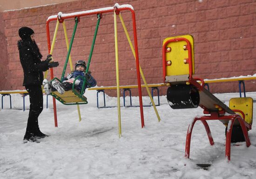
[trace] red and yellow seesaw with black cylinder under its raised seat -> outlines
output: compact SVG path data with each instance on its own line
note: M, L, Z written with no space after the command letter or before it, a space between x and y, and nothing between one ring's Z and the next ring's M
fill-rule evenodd
M163 80L170 86L167 90L170 107L189 109L200 106L205 114L195 117L189 125L185 157L189 158L191 134L196 121L203 123L210 145L214 145L214 141L207 120L219 120L226 126L225 156L228 160L230 160L231 141L246 141L246 146L249 147L248 130L252 125L252 98L232 98L228 107L204 88L202 79L192 77L195 70L194 39L191 35L166 38L163 41L162 57Z

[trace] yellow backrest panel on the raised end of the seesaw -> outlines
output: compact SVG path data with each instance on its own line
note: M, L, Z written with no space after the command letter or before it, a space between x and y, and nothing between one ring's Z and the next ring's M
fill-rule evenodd
M195 73L194 68L194 38L191 35L183 35L183 36L176 36L165 38L163 44L168 41L169 39L174 38L186 38L189 40L191 45L191 55L192 55L192 74ZM187 45L186 41L177 41L171 42L167 44L167 48L171 47L170 52L166 52L166 61L171 61L170 66L166 66L166 76L173 76L173 75L188 75L189 74L189 64L184 63L184 59L189 58L189 51L184 50L183 46Z

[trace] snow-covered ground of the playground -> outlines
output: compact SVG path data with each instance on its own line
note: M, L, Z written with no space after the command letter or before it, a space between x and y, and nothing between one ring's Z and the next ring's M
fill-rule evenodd
M256 92L246 95L256 99ZM41 131L50 136L41 139L40 143L27 144L22 139L28 110L20 110L23 100L18 94L12 95L13 109L9 109L9 97L5 96L4 109L0 109L0 179L256 178L254 126L249 131L252 145L246 147L245 142L232 145L231 161L228 162L223 124L209 121L215 141L215 145L210 146L202 123L196 122L190 159L185 159L187 129L195 115L202 115L201 108L173 110L166 96L161 96L161 105L157 106L161 121L158 122L153 107L144 107L145 128L141 129L140 109L122 107L122 137L119 138L117 108L98 109L95 91L87 91L86 96L89 103L80 106L81 122L76 106L57 102L58 128L54 128L50 97L49 108L45 108L39 117ZM228 105L229 98L239 97L239 94L216 96ZM44 101L46 107L46 96ZM149 101L149 97L143 97L144 104ZM116 98L107 96L106 102L109 106L115 105ZM139 104L138 97L133 97L133 103ZM28 105L27 96L27 109ZM212 165L203 170L196 166L197 163Z

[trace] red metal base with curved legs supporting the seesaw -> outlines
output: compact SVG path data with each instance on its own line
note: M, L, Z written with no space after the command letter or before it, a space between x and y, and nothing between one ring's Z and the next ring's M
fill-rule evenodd
M225 157L228 160L230 160L231 134L232 134L233 124L234 124L236 119L239 121L239 123L242 127L243 135L244 135L245 142L246 142L246 146L249 147L250 146L250 140L249 140L248 131L247 131L247 128L246 128L246 122L243 120L243 118L240 115L234 114L234 115L222 115L222 116L220 116L218 114L218 112L211 112L210 116L204 115L204 116L201 116L201 117L195 117L192 124L189 125L188 132L187 132L187 139L186 139L185 157L189 158L191 134L192 134L192 130L193 130L193 127L194 127L196 121L201 121L203 123L204 128L205 128L206 133L207 133L208 138L209 138L210 145L213 145L214 141L213 141L213 138L212 138L212 135L211 135L210 128L209 128L206 121L207 120L229 120L228 130L227 130L227 135L226 135L226 156Z

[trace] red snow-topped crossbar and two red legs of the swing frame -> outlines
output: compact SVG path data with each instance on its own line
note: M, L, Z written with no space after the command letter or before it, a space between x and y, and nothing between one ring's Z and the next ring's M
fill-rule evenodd
M99 13L100 14L102 14L102 13L111 13L111 12L114 12L114 8L118 9L118 11L129 10L132 13L137 81L138 81L138 92L139 92L139 102L140 102L140 112L141 112L141 128L143 128L145 125L144 125L143 103L142 103L142 93L141 93L140 63L139 63L138 40L137 40L137 31L136 31L136 23L135 23L135 11L134 11L133 8L128 7L128 6L123 6L123 7L113 6L113 7L109 7L109 8L100 8L100 9L95 9L95 10L91 10L91 11L83 11L81 13L70 13L70 15L63 14L63 16L61 16L60 18L58 18L57 15L50 16L46 21L48 52L50 53L50 50L51 50L51 39L50 39L50 30L49 30L49 23L51 21L54 21L54 20L56 21L58 19L60 21L60 23L62 23L64 19L70 19L70 18L75 18L75 17L80 18L81 16L87 16L87 15L93 15L93 14L99 14ZM54 78L53 69L50 69L50 72L51 72L51 79L53 79ZM55 127L58 127L56 102L55 102L54 97L53 97L53 105L54 105L54 123L55 123Z

